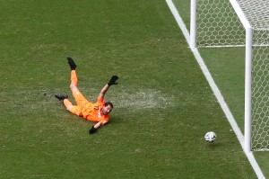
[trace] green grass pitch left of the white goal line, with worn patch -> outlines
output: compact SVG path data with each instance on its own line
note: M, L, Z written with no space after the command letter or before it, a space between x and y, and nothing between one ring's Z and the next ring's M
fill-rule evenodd
M165 1L4 0L0 14L0 178L256 178ZM54 97L71 95L68 55L92 101L120 77L91 136Z

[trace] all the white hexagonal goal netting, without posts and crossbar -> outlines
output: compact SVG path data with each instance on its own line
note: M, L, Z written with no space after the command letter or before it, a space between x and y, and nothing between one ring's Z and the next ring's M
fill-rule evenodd
M253 30L251 149L269 150L269 0L237 2ZM196 18L197 47L245 46L230 0L197 0Z

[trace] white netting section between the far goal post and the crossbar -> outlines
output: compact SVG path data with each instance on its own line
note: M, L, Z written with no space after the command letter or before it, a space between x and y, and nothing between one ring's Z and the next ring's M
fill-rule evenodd
M196 46L243 46L245 29L229 0L198 0Z

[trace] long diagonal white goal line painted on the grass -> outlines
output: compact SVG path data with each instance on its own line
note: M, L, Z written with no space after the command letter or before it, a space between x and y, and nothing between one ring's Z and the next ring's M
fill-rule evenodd
M181 29L181 31L183 32L185 39L187 40L187 43L189 45L189 32L187 31L186 25L182 21L180 15L178 13L177 8L173 4L172 0L166 0L166 3L168 4L171 13L174 15L176 21L178 22L178 26ZM218 102L220 103L222 111L225 113L226 118L230 122L230 126L231 126L232 130L234 130L237 138L239 139L241 147L244 149L244 136L243 136L241 130L239 129L239 126L238 126L237 122L235 121L232 113L230 112L230 109L229 109L227 103L225 103L224 98L221 94L221 91L219 90L218 86L215 84L213 77L211 76L208 68L205 66L204 60L201 57L199 51L197 49L192 49L192 51L195 55L196 61L198 62L199 66L201 67L201 69L204 73L204 76L205 76L207 82L209 83L209 85L211 86L211 88L213 90L213 94L216 96ZM247 156L247 159L248 159L250 165L253 167L253 169L256 173L256 176L259 179L265 179L265 175L263 174L262 170L260 169L260 167L256 163L256 159L253 156L252 152L245 152L245 154Z

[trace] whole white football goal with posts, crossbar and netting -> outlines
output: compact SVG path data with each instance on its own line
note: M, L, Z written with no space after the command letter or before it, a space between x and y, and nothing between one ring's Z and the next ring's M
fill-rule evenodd
M245 151L269 150L269 1L191 0L190 48L245 47Z

